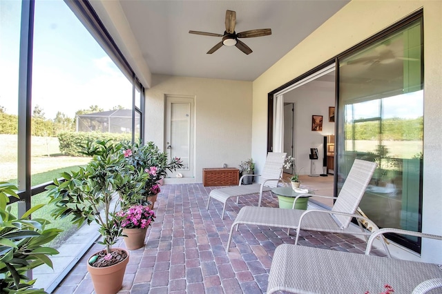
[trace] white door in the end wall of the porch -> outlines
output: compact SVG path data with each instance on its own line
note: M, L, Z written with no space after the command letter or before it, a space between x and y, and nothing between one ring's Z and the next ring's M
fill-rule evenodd
M166 96L166 151L169 158L180 157L182 168L176 173L193 173L193 97ZM169 175L169 177L174 175Z

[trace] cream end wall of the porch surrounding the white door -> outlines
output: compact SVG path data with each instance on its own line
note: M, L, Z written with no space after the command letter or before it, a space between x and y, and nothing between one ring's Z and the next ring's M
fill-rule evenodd
M146 90L146 141L164 149L165 97L195 97L195 177L175 179L202 182L202 168L223 164L238 168L251 157L251 81L229 81L153 75Z

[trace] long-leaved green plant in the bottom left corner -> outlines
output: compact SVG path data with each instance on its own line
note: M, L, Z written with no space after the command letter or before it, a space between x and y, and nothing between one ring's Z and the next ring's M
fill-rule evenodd
M44 244L52 241L61 230L46 229L46 219L29 219L44 204L28 210L21 218L10 212L9 197L19 196L15 193L17 186L0 182L0 293L46 293L44 289L34 288L36 280L30 280L26 274L32 268L47 264L52 268L48 255L59 252Z

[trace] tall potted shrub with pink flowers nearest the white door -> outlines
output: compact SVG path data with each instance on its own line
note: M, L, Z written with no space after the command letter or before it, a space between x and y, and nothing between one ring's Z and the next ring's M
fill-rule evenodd
M124 142L124 156L128 164L136 170L144 170L148 173L148 179L143 187L144 202L152 202L152 208L160 193L160 185L168 172L182 168L182 161L178 157L168 162L167 153L164 153L153 142L132 144ZM139 199L126 199L130 204L140 203Z

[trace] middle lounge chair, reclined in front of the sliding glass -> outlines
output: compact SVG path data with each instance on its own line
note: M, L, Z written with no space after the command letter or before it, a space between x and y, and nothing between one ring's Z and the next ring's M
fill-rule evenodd
M254 207L244 206L236 216L235 221L230 229L229 239L227 241L227 251L229 251L233 228L240 224L253 224L257 226L277 226L287 228L287 234L290 229L296 229L296 241L298 243L300 230L324 231L332 233L345 233L353 217L358 219L361 232L356 231L354 234L369 235L370 232L365 231L361 221L373 222L360 214L355 214L359 202L365 193L365 188L372 179L376 163L355 159L352 169L350 170L345 183L341 188L338 197L320 196L314 194L302 194L298 197L311 195L314 197L325 197L336 199L332 210L298 210L283 209L270 207ZM298 199L296 197L296 199ZM295 203L296 203L295 199ZM295 205L294 203L294 205ZM377 229L374 225L374 230Z

